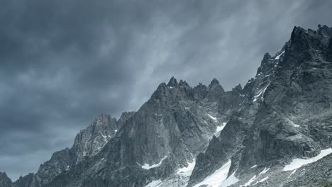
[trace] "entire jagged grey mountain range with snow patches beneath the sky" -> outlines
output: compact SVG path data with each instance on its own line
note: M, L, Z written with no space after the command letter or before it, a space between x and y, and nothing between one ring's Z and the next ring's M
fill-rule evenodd
M255 78L174 77L136 112L101 114L35 174L1 187L332 186L332 28L294 27Z

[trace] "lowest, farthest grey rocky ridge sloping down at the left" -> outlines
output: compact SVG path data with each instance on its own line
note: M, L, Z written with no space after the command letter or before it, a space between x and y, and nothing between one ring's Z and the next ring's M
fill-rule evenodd
M45 186L59 174L67 172L82 160L97 154L111 140L111 137L116 136L118 128L134 114L135 112L123 113L119 120L106 114L98 115L87 129L82 130L75 137L72 148L55 152L49 161L40 164L36 174L20 177L13 183L13 186Z

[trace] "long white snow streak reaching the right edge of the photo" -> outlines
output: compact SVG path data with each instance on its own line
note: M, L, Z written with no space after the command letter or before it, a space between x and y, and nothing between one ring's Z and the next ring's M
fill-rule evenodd
M312 157L309 159L294 159L290 164L288 164L287 166L284 166L284 169L282 169L282 170L290 171L290 170L298 169L301 166L304 166L306 164L317 162L319 159L321 159L331 153L332 153L332 149L328 148L328 149L321 150L321 153L319 155L317 155L316 157Z

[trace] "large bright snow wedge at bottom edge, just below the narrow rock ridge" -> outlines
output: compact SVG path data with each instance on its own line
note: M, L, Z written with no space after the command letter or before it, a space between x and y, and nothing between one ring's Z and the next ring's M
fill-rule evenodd
M210 176L206 177L204 181L201 181L194 187L199 187L201 185L207 185L209 187L218 187L219 185L221 185L221 182L227 178L230 167L231 167L231 160L229 160L226 164L221 166L220 169L214 171L214 174L211 174Z

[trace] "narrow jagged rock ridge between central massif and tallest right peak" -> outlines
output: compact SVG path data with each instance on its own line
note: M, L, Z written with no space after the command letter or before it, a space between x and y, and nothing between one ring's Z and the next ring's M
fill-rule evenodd
M239 157L243 149L245 135L248 134L251 125L253 125L267 86L270 85L272 75L283 58L282 52L278 52L276 57L279 55L280 57L276 59L268 53L265 54L255 79L250 79L243 89L240 85L233 89L233 92L239 94L240 102L232 103L236 99L231 99L222 104L224 108L228 108L228 114L231 117L228 118L228 123L220 135L211 140L206 152L198 155L194 171L190 176L189 186L203 181L206 176L214 173L229 159L236 160L236 157ZM234 162L232 165L232 169L237 168L234 166Z

